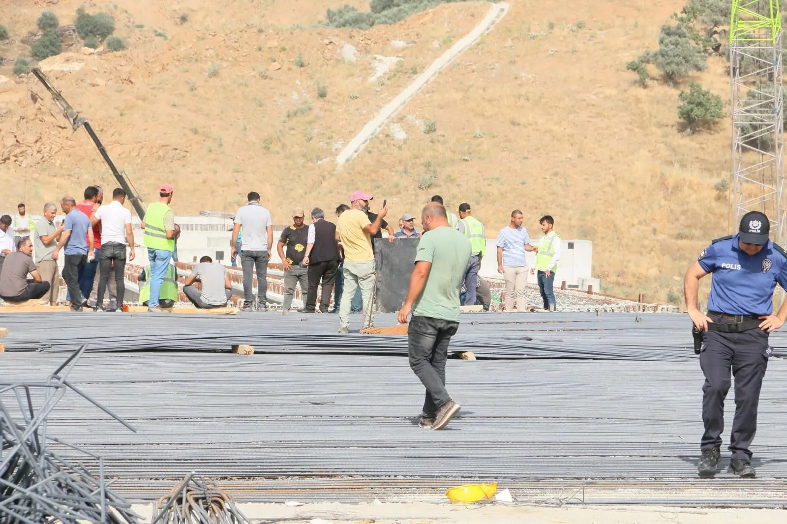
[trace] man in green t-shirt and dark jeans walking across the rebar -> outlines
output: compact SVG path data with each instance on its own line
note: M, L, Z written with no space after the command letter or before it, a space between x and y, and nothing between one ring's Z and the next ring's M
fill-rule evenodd
M449 226L445 208L438 202L423 208L421 225L426 232L416 250L399 322L406 323L412 310L407 330L410 367L427 388L418 425L441 430L461 407L445 390L445 360L459 327L459 290L472 246L464 234ZM431 271L433 265L435 271Z

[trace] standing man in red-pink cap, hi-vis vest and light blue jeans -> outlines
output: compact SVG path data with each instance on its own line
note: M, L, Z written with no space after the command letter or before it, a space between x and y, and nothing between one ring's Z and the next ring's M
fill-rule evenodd
M175 251L175 212L169 207L172 202L172 186L161 184L158 196L158 201L148 206L142 220L150 262L148 311L153 313L161 312L158 304L161 284L164 283L172 253Z

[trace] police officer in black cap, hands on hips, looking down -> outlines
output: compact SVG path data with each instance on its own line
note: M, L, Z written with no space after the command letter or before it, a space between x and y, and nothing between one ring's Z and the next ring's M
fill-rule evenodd
M773 314L774 289L787 287L787 253L770 242L768 217L748 212L738 234L717 238L686 271L686 306L697 330L703 332L700 367L702 421L705 433L697 467L701 477L713 476L719 464L724 429L724 399L735 377L735 418L730 434L730 470L754 478L748 447L757 429L759 389L768 365L768 334L785 323L787 301ZM708 315L697 308L699 280L713 273Z

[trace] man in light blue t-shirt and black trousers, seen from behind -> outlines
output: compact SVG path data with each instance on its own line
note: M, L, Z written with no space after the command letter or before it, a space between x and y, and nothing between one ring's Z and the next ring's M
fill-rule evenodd
M65 246L65 264L63 264L63 280L68 286L68 294L71 296L72 311L82 311L83 306L87 305L87 298L79 290L79 272L88 259L93 259L93 228L91 220L76 207L76 200L73 197L63 197L60 201L60 208L65 213L63 221L63 234L60 242L52 252L52 258L57 260L57 255Z

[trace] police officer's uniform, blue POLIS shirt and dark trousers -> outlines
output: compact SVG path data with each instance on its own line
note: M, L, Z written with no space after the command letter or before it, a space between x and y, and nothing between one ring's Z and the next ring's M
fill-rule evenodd
M749 445L757 429L757 406L768 365L768 333L757 317L773 312L776 284L787 289L787 253L770 240L755 255L739 247L740 234L717 238L697 262L712 273L708 327L700 347L702 419L705 432L700 448L722 443L724 399L730 390L730 369L735 378L735 418L730 434L732 459L751 459Z

